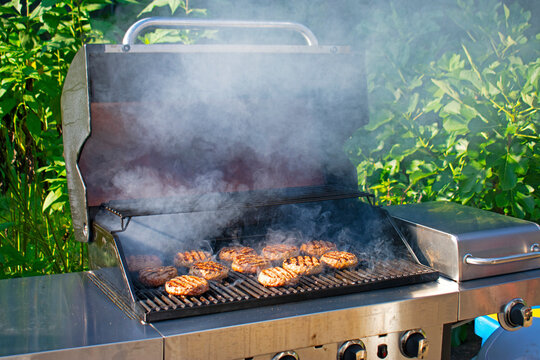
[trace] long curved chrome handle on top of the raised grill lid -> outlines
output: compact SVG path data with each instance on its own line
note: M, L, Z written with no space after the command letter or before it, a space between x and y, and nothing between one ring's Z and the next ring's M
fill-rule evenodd
M236 20L205 20L205 19L178 19L165 17L151 17L137 21L126 31L122 44L129 48L135 43L137 35L148 28L259 28L284 29L300 33L308 46L318 46L319 41L306 26L294 22L279 21L236 21Z

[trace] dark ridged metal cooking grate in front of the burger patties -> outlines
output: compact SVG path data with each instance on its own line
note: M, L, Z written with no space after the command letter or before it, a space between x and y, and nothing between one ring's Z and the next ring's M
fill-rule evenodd
M163 287L150 289L139 283L135 288L144 320L151 322L421 283L438 276L427 266L395 259L372 268L360 265L303 276L294 287L267 288L259 284L256 275L230 271L222 282L210 282L210 290L200 296L169 295Z

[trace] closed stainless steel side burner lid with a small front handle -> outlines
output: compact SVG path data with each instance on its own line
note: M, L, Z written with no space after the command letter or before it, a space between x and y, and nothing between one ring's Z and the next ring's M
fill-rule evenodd
M540 268L540 226L452 202L388 207L425 265L464 281Z

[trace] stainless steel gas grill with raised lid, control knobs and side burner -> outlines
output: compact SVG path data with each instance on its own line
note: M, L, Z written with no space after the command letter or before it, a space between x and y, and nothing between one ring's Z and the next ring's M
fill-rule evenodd
M149 26L279 29L307 44L134 44ZM75 56L63 134L86 276L142 322L134 329L155 331L155 358L439 359L462 321L530 325L538 225L451 203L380 208L358 191L343 144L367 122L364 71L361 51L292 23L145 19L122 45ZM260 251L275 234L332 241L360 262L276 288L230 271L199 296L146 287L127 266L130 255L171 265L178 251Z

